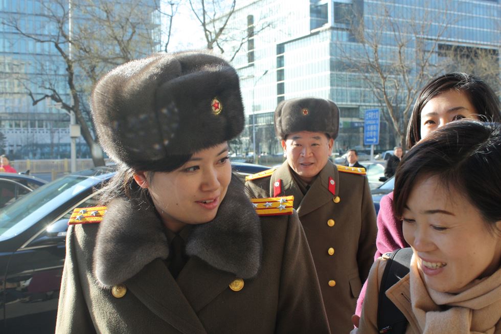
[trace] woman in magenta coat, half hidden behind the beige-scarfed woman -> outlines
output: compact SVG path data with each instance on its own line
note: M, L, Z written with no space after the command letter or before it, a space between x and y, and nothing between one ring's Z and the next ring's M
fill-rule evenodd
M501 122L499 100L492 88L482 79L462 72L448 73L431 80L414 104L407 126L407 148L411 149L433 130L464 118ZM379 206L374 259L384 253L409 247L403 237L402 222L393 213L393 192L383 196ZM364 285L357 301L358 316L365 290Z

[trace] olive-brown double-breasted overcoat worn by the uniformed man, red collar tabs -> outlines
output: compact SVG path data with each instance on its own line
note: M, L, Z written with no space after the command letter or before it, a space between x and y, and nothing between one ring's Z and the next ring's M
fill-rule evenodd
M341 172L340 170L347 170ZM246 182L257 197L293 195L315 262L332 333L348 333L361 284L376 250L376 213L367 177L328 162L305 195L285 161L271 175ZM333 181L333 184L331 183ZM338 202L338 203L335 203Z

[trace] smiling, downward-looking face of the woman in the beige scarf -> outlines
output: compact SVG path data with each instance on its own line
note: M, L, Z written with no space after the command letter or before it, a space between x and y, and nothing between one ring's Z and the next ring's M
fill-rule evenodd
M403 234L428 287L458 292L500 264L501 236L486 226L462 195L441 186L437 176L415 183L403 211ZM496 223L501 228L501 221Z

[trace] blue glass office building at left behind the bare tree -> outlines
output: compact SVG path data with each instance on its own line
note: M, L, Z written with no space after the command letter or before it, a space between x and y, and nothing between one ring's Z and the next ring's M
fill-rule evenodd
M70 157L69 115L49 98L33 105L33 100L28 95L31 91L33 98L38 100L45 94L53 93L44 88L50 86L64 102L71 104L66 82L66 64L53 43L37 42L22 35L20 31L40 41L54 39L58 35L58 29L53 18L62 17L68 11L69 4L72 4L75 36L79 23L85 22L91 15L79 10L82 8L79 5L83 2L85 0L0 0L0 132L4 136L3 140L0 138L0 145L3 146L0 150L3 149L11 159ZM114 0L107 3L116 6L116 9L123 9L130 2ZM144 12L135 13L135 17L142 15L149 20L148 31L143 34L149 40L142 44L142 49L137 48L133 52L150 54L161 47L160 16L150 6L138 8ZM19 29L12 27L13 24ZM69 32L67 21L64 29ZM96 35L89 38L96 38ZM100 48L113 48L112 45L103 43ZM68 43L62 43L61 47L69 54ZM76 71L75 82L78 88L85 88L88 92L87 88L92 83L82 85L82 80L87 79L84 79L78 69ZM81 107L88 111L88 96L83 92ZM78 138L77 158L89 157L87 144L82 137Z

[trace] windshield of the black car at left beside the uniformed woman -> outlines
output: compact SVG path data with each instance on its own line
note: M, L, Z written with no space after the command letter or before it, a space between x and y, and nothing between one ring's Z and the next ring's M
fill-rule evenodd
M0 210L0 240L9 239L31 227L71 197L101 183L102 177L67 175L41 186Z

